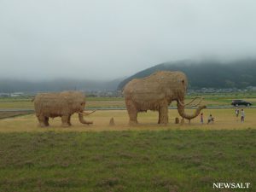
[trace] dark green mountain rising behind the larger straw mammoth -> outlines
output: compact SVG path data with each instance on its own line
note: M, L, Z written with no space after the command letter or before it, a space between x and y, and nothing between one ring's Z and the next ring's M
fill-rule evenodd
M246 88L256 86L256 60L239 61L172 61L147 68L123 80L122 90L131 79L144 78L156 71L182 71L189 79L189 89Z

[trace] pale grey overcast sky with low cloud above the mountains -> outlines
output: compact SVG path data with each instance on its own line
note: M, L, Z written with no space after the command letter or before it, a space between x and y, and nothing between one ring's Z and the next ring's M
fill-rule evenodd
M0 0L0 79L117 79L252 57L255 0Z

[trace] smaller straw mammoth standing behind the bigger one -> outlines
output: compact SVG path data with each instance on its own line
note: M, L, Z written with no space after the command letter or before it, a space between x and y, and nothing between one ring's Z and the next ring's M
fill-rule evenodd
M60 93L42 93L33 99L35 112L41 127L49 126L49 118L61 117L62 126L70 126L71 115L79 113L79 121L90 125L84 120L85 96L79 91L63 91Z

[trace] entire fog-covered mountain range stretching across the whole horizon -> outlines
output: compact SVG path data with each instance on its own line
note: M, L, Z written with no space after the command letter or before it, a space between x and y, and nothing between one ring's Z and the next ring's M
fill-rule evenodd
M55 79L44 81L0 80L0 92L61 90L122 90L131 79L141 79L156 71L182 71L189 79L189 89L256 87L256 59L236 61L182 60L148 67L123 79L111 81Z

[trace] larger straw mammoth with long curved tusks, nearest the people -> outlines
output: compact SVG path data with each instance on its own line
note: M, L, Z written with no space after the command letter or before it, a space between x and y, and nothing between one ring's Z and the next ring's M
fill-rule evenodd
M160 71L143 79L132 79L123 91L130 125L137 124L138 112L147 110L158 111L158 123L167 124L168 106L172 101L177 101L177 111L184 119L190 121L198 116L206 106L199 106L193 114L184 111L187 86L187 77L182 72ZM197 105L199 104L200 102Z

